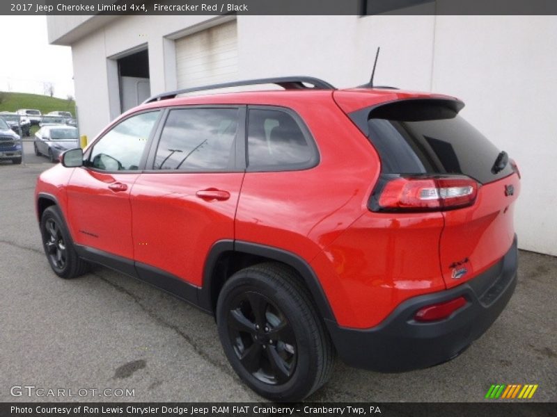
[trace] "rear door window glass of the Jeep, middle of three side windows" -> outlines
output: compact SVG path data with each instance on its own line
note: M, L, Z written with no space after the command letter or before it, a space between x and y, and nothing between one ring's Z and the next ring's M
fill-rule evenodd
M234 165L237 108L177 108L168 113L155 170L227 170Z

